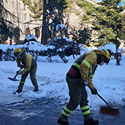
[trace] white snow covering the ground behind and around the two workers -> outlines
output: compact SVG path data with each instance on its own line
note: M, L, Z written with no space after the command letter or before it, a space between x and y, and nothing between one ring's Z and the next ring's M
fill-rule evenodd
M85 49L84 51L90 51ZM76 58L79 56L75 56ZM38 80L39 92L33 92L33 85L30 77L26 79L23 92L14 95L17 90L19 81L11 81L8 77L14 77L16 71L19 70L16 61L0 61L0 105L13 102L23 101L24 99L35 100L36 98L54 98L59 100L59 104L65 104L69 100L68 86L65 76L70 66L74 62L72 56L67 57L68 63L57 56L53 57L53 62L46 61L45 57L38 60L38 68L36 78ZM116 60L111 60L108 65L98 66L93 83L99 94L111 105L125 106L125 56L122 56L121 65L116 65ZM17 76L20 80L20 76ZM100 105L105 103L97 96L92 95L89 88L88 91L89 105L96 110Z

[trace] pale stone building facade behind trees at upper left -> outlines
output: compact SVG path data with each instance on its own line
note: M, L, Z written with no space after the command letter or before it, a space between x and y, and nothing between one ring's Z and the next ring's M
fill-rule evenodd
M25 38L25 29L27 27L30 27L31 33L34 35L36 29L40 30L40 27L42 25L41 20L34 20L30 16L32 13L28 9L28 6L24 5L24 3L21 0L3 0L2 6L3 6L3 11L6 11L6 13L4 12L3 15L4 20L6 20L6 22L11 22L11 24L15 28L19 27L20 29L19 40L23 40ZM13 39L13 41L17 42L16 39Z

